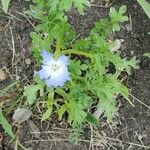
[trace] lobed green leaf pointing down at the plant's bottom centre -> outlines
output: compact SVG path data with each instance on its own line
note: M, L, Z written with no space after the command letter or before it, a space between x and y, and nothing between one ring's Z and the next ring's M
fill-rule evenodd
M75 85L70 89L70 93L68 93L68 100L69 102L66 104L68 122L73 127L82 125L86 120L86 109L91 105L91 97L84 92L83 87Z

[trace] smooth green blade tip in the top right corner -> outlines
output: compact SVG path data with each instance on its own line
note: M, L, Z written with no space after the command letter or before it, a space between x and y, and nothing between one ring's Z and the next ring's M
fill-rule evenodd
M145 13L150 19L150 3L148 3L146 0L137 0L138 3L142 6L144 9Z

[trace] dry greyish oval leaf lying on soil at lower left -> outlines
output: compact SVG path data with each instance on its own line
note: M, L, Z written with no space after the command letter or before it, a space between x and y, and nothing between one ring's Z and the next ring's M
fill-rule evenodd
M28 120L32 115L32 112L27 108L18 108L13 114L13 120L21 124L22 122Z

